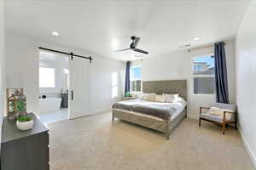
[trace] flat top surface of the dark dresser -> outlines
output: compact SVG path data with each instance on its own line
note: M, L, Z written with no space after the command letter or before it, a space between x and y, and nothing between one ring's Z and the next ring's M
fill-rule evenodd
M21 131L18 129L18 127L16 127L16 121L9 121L7 117L4 117L2 128L2 143L49 131L49 129L44 126L44 123L41 122L33 113L28 113L27 115L32 117L34 126L32 129L26 131Z

